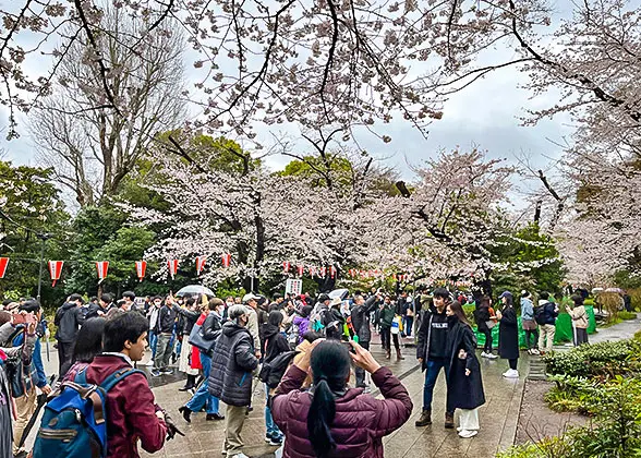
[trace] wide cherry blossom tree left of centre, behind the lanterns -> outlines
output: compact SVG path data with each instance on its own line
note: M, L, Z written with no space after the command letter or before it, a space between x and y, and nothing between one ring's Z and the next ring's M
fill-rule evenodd
M334 265L338 250L349 251L349 234L336 225L340 203L324 188L262 167L234 172L173 157L165 160L160 173L148 188L170 209L129 208L138 224L167 227L148 255L207 256L214 266L209 281L240 277L245 289L257 290L257 279L281 272L283 261ZM223 253L232 254L230 268L218 261Z

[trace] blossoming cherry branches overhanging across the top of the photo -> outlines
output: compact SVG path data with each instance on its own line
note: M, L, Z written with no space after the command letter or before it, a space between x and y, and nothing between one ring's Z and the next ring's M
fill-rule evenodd
M10 136L16 135L15 110L27 110L50 93L76 40L89 44L86 59L102 83L99 106L125 112L114 92L118 72L100 49L100 37L135 48L169 19L197 53L193 65L201 79L191 95L202 108L196 126L249 137L256 122L293 120L349 131L400 116L424 129L442 117L447 95L435 88L443 80L458 84L463 71L471 79L486 73L489 68L474 65L479 52L508 38L515 23L529 36L533 25L548 21L540 0L117 0L113 5L124 16L144 19L146 27L118 36L101 21L104 3L86 0L0 7L1 99L11 110ZM50 55L52 64L32 72L40 52Z

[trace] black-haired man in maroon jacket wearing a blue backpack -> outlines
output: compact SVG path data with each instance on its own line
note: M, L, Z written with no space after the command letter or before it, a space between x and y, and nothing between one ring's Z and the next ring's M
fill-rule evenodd
M87 367L87 382L99 385L114 372L133 367L145 354L148 329L149 323L137 312L108 321L102 353ZM107 457L138 457L138 441L146 451L158 451L167 430L165 412L156 405L145 375L132 374L107 394Z

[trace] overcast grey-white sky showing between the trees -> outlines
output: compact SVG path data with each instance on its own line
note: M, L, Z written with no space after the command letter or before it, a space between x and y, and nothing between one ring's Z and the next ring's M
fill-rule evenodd
M567 5L567 0L559 2L563 7ZM559 8L558 4L556 8L558 16L567 13L564 11L567 8ZM487 56L487 59L509 59L510 56L510 50L501 50ZM186 60L185 67L189 69L189 58ZM561 153L554 142L560 143L564 137L570 136L572 128L567 118L560 117L536 126L520 125L519 118L527 116L528 108L547 108L556 101L554 95L530 99L529 92L519 87L527 81L528 75L520 73L517 68L508 68L455 94L445 105L443 119L432 124L427 140L400 116L390 124L379 124L376 129L380 135L390 135L391 143L384 144L367 132L359 134L356 140L374 157L386 158L387 165L398 167L404 178L411 178L408 162L419 165L440 148L460 146L467 149L474 144L487 149L491 157L516 162L517 154L527 155L536 167L545 167L548 162L545 157L558 157ZM7 110L2 107L0 126L5 124L5 120ZM4 157L16 165L38 165L26 128L27 120L24 116L20 116L19 120L22 137L11 142L2 137L0 146L5 150ZM278 134L267 128L257 129L257 132L266 146L269 146L271 134ZM289 160L288 157L274 156L267 158L266 162L273 169L280 169Z

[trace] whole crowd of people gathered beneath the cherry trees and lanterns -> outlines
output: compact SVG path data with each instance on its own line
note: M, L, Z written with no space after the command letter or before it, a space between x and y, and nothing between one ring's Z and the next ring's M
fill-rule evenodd
M547 292L539 292L537 298L535 305L528 291L520 296L531 354L551 351L559 312ZM568 312L580 345L588 340L588 317L583 298L571 299ZM169 293L136 301L126 291L118 301L107 293L85 301L81 294L71 294L53 320L57 384L47 378L40 357L39 337L48 333L40 304L33 299L5 303L7 310L0 312L0 367L7 369L0 371L0 457L26 456L25 426L36 410L36 389L56 396L70 382L104 384L111 374L142 364L145 350L152 353L147 363L152 376L173 373L177 362L178 371L185 374L180 390L189 391L191 398L179 409L184 421L191 422L202 411L206 421L225 421L222 451L229 458L245 457L241 432L259 383L266 396L265 441L280 447L282 456L342 456L341 450L349 450L349 456L383 456L382 437L407 422L412 402L401 382L370 353L376 334L387 360L392 343L397 360L403 360L402 339L416 342L425 383L415 425L432 424L433 393L443 369L445 427L455 427L453 413L459 409L458 434L473 437L485 394L476 337L463 304L474 303L473 320L485 336L481 357L508 360L504 376L518 377L513 296L505 291L499 301L495 310L488 297L452 294L444 288L432 293L419 290L413 297L372 289L315 299L275 294L271 300L254 293L226 300ZM492 343L495 325L498 357ZM355 387L349 388L352 367ZM370 396L372 384L384 399ZM111 425L107 456L137 456L138 441L143 449L154 453L180 433L155 402L144 373L132 371L106 396ZM226 405L225 414L220 401ZM3 454L7 450L11 453Z

